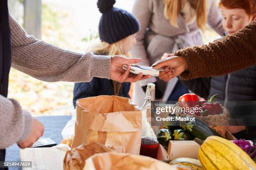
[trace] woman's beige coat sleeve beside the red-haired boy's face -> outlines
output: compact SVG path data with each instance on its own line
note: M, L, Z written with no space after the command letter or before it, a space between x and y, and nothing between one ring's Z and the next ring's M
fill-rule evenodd
M218 9L217 5L215 4L215 0L209 1L210 4L210 10L207 14L207 23L217 32L219 35L223 36L223 26L222 26L222 16L220 14L220 10Z

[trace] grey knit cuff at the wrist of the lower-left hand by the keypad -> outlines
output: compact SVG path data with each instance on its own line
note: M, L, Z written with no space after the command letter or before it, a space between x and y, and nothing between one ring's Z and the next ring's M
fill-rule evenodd
M28 135L31 132L31 128L32 128L32 116L29 114L28 111L23 110L23 117L24 117L24 130L23 130L23 134L20 137L20 140L17 142L23 142L28 138Z

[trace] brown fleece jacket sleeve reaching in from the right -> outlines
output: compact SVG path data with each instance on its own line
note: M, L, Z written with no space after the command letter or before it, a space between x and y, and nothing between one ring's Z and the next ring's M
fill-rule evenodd
M224 75L256 63L256 20L242 30L208 45L187 47L174 52L187 60L180 78Z

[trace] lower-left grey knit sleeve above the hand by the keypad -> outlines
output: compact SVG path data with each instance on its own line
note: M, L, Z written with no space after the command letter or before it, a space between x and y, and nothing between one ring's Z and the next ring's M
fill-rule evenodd
M7 148L28 137L32 127L31 115L19 103L0 95L0 149Z

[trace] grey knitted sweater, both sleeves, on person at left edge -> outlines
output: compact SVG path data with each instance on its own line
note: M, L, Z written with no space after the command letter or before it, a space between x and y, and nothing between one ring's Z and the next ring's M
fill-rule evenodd
M89 82L110 78L110 56L63 50L27 35L10 15L12 67L39 80ZM26 140L32 125L29 112L14 99L0 95L0 148Z

